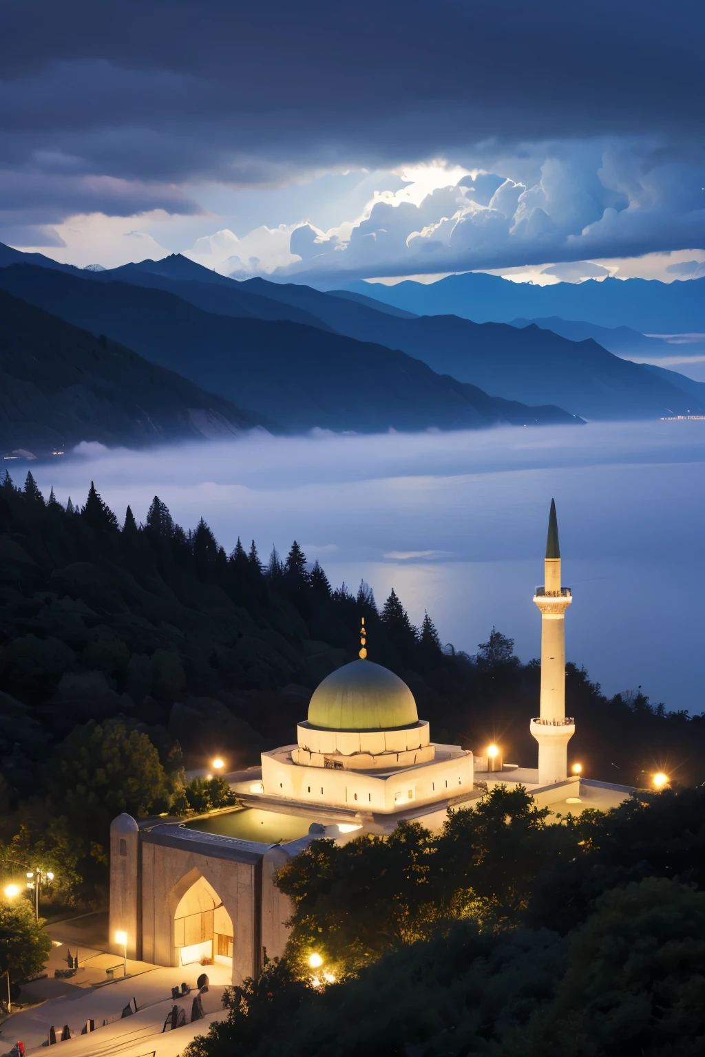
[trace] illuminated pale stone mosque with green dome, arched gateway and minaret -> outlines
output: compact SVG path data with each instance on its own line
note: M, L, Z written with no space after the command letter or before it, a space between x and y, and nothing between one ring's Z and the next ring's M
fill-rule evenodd
M431 741L427 720L397 675L359 659L314 691L296 744L262 754L261 769L228 776L233 810L205 819L120 815L111 827L110 935L120 956L156 965L221 963L233 982L257 976L286 942L289 898L279 866L317 837L391 833L402 819L440 829L449 808L471 806L497 784L524 785L556 814L607 809L631 792L569 774L575 721L565 716L565 612L555 503L551 503L541 613L540 715L530 720L538 767L505 762L501 746L474 754ZM119 942L117 939L119 938Z

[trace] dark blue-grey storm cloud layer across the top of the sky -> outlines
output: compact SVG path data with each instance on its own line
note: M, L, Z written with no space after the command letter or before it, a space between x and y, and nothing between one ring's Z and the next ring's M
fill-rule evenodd
M126 179L282 179L484 138L702 130L703 5L654 0L4 4L4 159Z

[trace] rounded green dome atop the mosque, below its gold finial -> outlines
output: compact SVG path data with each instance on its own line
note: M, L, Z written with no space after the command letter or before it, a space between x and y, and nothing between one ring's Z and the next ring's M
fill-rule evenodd
M309 704L309 723L324 730L393 730L418 722L409 687L372 661L353 661L331 672Z

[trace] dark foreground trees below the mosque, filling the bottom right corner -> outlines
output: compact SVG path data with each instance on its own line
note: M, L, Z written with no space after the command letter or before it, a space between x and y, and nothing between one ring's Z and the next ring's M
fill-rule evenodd
M546 822L496 790L438 837L315 841L281 871L287 959L227 993L185 1057L701 1054L705 790ZM556 887L537 923L574 863L592 894L565 929L574 891Z

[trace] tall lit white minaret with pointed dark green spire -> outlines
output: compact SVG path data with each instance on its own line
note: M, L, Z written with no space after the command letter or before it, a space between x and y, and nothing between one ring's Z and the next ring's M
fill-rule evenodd
M575 721L565 718L565 610L573 601L571 589L560 586L560 549L556 503L551 500L545 544L543 587L534 601L541 610L541 715L531 731L539 743L539 785L568 777L568 743Z

